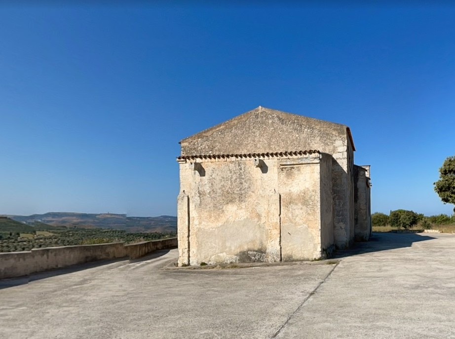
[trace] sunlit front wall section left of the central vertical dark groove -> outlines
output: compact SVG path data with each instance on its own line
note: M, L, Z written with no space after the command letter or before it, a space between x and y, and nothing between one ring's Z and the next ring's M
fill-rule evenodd
M180 265L280 260L277 160L262 161L180 165Z

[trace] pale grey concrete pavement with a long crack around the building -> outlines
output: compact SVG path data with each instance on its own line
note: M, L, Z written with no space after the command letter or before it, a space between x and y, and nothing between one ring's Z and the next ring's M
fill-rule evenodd
M374 240L339 264L163 270L171 250L0 280L0 338L455 338L455 235Z

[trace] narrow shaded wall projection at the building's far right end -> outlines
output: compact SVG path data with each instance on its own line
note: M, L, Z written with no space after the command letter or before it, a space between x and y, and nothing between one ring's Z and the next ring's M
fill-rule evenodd
M370 185L367 170L354 165L355 240L368 241L371 235Z

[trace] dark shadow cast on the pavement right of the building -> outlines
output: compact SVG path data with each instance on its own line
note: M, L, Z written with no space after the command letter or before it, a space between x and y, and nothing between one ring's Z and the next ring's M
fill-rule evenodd
M431 236L418 233L379 233L374 232L370 241L356 242L347 250L338 250L334 258L344 258L358 254L393 250L397 248L411 247L413 243L436 239Z

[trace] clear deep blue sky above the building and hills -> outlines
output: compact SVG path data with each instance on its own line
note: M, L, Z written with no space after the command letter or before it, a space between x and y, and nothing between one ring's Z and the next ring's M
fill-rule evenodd
M64 3L0 4L0 214L176 215L178 142L260 105L350 126L373 212L452 214L450 2Z

